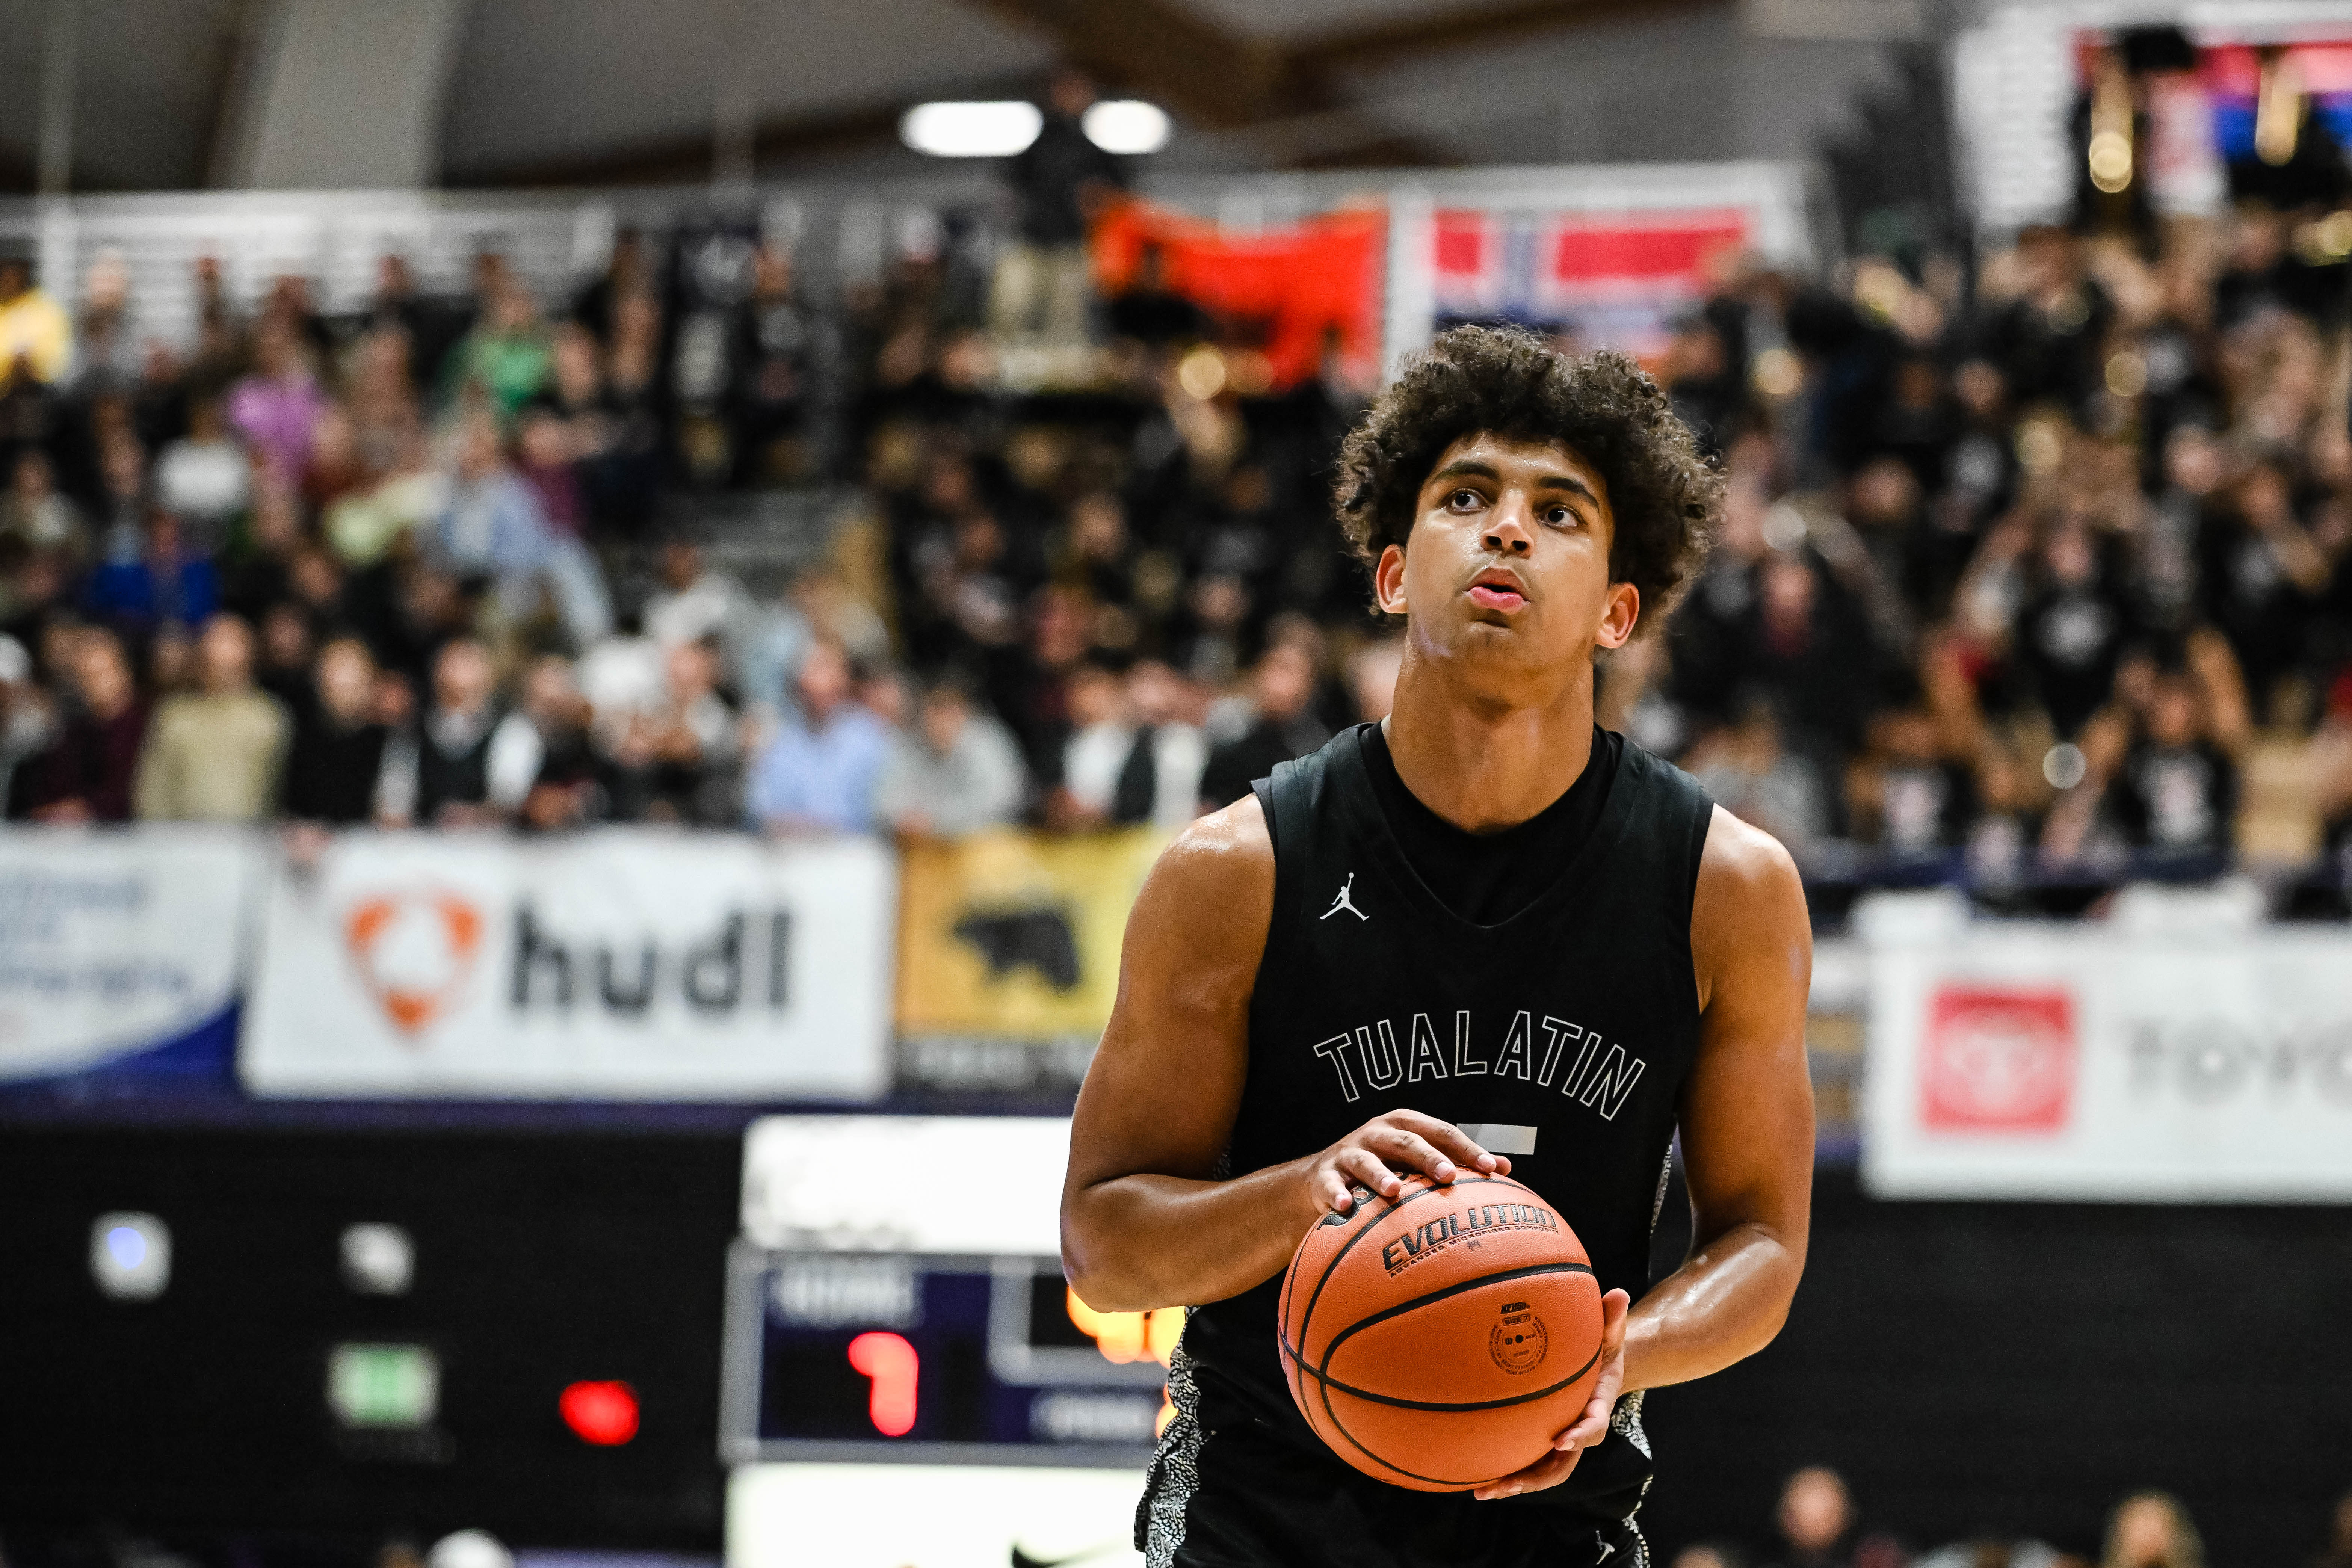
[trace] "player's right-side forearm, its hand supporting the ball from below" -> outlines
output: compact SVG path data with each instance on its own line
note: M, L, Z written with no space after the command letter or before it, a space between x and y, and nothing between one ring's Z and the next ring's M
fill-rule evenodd
M1748 1220L1691 1248L1625 1319L1625 1392L1691 1382L1771 1345L1804 1272L1804 1237Z

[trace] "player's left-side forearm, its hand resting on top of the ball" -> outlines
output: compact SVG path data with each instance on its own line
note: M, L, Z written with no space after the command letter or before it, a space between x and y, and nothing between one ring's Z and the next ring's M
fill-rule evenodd
M1312 1159L1228 1182L1120 1175L1070 1194L1061 1265L1096 1312L1152 1312L1225 1300L1279 1274L1322 1213Z

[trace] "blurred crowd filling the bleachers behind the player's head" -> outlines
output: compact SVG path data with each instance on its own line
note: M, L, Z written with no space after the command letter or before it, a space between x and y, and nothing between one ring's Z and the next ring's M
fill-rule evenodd
M1110 174L1073 158L1007 263L1068 273ZM129 341L120 261L73 320L0 261L9 816L1176 825L1381 717L1336 346L1277 388L1145 259L1077 315L1089 378L1016 390L1004 280L910 235L828 301L750 237L623 233L562 299L388 256L339 317L200 263L193 346ZM720 249L741 287L696 294ZM2352 214L2241 202L1726 259L1656 364L1729 473L1719 548L1602 722L1816 879L2343 853L2347 254ZM677 508L746 487L858 522L755 592Z

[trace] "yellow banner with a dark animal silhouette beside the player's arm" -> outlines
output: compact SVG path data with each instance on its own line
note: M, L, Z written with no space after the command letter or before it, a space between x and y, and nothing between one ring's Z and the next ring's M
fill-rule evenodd
M1120 938L1167 835L983 832L906 851L898 1034L1101 1034Z

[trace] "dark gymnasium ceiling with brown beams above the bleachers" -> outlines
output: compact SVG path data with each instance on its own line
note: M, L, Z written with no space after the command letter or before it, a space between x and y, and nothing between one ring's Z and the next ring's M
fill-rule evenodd
M0 0L0 190L33 181L49 2ZM282 0L78 2L75 188L216 183L240 38ZM1752 33L1743 19L1755 5L463 0L440 174L449 186L696 181L710 174L727 92L748 108L762 174L882 172L915 160L894 141L906 106L1028 94L1056 59L1167 106L1178 122L1169 158L1200 167L1722 155L1677 146L1675 122L1715 113L1700 103L1703 71L1686 101L1625 103L1653 122L1649 141L1625 148L1562 148L1559 101L1604 96L1609 82L1595 78L1618 73L1599 71L1604 59Z

